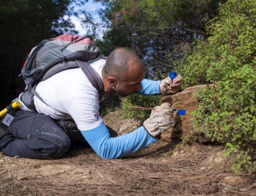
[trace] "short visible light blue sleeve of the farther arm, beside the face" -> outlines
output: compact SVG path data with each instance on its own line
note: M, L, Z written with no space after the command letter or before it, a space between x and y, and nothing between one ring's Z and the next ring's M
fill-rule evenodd
M142 84L142 90L135 92L136 94L139 95L161 95L160 92L160 80L158 81L153 81L153 80L148 80L148 79L143 79L141 84Z

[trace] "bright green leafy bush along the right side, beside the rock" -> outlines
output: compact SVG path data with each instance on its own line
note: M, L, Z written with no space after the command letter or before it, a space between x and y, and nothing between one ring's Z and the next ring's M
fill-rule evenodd
M256 2L229 0L219 11L220 16L207 28L211 37L199 45L209 51L212 60L208 64L203 56L195 70L205 62L206 80L214 84L198 93L195 127L212 140L226 143L226 155L236 154L236 172L249 167L256 170L251 160L256 146ZM190 58L195 61L194 55L197 51Z

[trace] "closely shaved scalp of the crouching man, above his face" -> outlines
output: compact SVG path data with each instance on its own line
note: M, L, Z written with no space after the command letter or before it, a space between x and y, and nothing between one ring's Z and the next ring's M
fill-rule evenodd
M127 48L117 48L110 53L106 60L103 74L106 78L113 76L117 80L123 81L131 64L144 67L139 57L133 51Z

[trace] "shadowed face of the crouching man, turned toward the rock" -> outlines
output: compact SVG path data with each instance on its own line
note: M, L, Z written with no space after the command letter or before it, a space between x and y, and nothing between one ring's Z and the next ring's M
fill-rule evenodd
M144 78L144 67L132 65L122 82L118 81L115 92L121 97L127 97L136 91L142 90L141 81Z

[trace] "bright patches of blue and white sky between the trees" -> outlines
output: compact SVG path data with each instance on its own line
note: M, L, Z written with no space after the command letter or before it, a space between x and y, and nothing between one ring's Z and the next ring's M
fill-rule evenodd
M94 12L98 8L103 9L104 7L102 7L100 3L94 3L93 1L89 0L89 2L85 3L82 7L75 6L75 11L87 9ZM76 16L71 16L71 21L75 25L75 29L78 31L79 35L86 35L87 29L81 26L80 20Z

